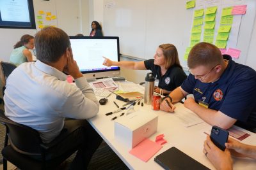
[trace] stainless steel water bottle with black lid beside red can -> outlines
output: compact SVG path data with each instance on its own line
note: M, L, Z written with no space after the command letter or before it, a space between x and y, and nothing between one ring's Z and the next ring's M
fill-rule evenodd
M145 92L144 92L144 103L151 104L152 103L152 96L154 93L154 83L155 78L153 73L147 73L145 78Z

